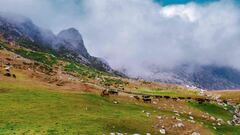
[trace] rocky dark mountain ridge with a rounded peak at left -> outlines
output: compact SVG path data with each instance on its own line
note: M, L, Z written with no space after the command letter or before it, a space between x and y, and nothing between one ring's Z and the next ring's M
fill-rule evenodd
M4 38L16 40L32 49L54 51L58 55L96 69L118 73L105 60L91 56L87 52L81 34L74 28L63 30L58 35L54 35L52 31L36 26L29 18L1 13L0 33L3 34ZM29 42L31 46L26 42Z

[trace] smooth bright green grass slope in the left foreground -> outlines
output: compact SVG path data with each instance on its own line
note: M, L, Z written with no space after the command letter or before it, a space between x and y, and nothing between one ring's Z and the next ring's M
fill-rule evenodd
M153 119L141 113L151 107L113 104L93 94L54 92L36 85L10 86L1 81L0 86L0 134L153 132Z

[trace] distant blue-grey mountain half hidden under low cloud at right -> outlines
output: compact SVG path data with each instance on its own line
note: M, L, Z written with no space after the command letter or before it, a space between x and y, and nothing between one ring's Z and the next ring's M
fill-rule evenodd
M240 72L238 70L216 65L184 65L171 70L154 71L152 76L147 79L209 90L240 88Z

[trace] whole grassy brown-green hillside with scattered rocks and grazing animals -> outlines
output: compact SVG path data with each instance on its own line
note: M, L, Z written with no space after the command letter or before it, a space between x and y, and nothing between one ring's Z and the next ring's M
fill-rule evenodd
M122 78L4 37L0 46L0 134L240 132L238 96Z

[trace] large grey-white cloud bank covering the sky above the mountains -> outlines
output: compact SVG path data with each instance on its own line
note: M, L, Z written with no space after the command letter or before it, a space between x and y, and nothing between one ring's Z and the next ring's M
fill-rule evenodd
M183 64L240 69L240 9L233 0L169 6L152 0L83 0L80 5L9 0L0 5L0 11L24 14L55 32L78 28L91 54L131 76Z

